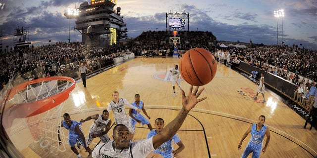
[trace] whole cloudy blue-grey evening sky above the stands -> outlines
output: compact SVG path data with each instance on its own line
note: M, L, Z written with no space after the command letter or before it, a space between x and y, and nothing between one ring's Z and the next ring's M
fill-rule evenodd
M0 0L2 47L13 45L17 26L30 28L33 45L68 41L69 24L75 20L64 16L67 8L79 6L76 0ZM89 1L90 2L90 1ZM166 30L167 12L186 10L190 31L211 31L217 40L264 44L279 42L297 44L317 50L317 0L117 0L127 24L128 37L143 31ZM285 16L276 19L274 10L284 9ZM282 37L282 23L284 36ZM187 24L186 24L187 30ZM81 41L78 31L70 31L70 39Z

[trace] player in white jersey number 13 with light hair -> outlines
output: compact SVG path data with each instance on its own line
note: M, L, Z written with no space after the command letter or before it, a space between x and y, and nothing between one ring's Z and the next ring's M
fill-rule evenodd
M127 105L129 108L136 110L137 112L141 112L142 109L138 109L137 107L131 105L128 100L125 98L119 98L119 92L118 91L113 91L112 92L112 100L108 104L107 111L113 111L114 115L114 120L116 124L124 124L125 126L128 127L130 133L133 135L135 133L131 120L127 117L124 105Z

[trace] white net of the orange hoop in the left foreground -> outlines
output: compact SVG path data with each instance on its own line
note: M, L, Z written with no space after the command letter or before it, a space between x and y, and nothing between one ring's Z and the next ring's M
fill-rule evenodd
M9 98L6 105L38 101L53 96L72 84L74 83L61 79L29 84L24 90L17 91L12 98ZM62 108L63 103L44 113L28 118L20 118L24 127L12 127L11 133L16 133L21 128L28 128L34 139L34 143L29 146L31 149L34 148L34 151L41 157L48 157L48 154L58 155L58 152L66 151L65 144L68 144L68 136L65 135L63 130L59 129L61 145L59 145L57 138L57 129L63 120ZM39 147L43 150L39 151Z

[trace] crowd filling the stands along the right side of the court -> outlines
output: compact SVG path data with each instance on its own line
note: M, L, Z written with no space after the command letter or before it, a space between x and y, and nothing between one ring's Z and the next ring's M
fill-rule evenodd
M252 66L289 80L297 85L305 80L317 80L317 52L296 46L268 45L233 49L232 62L244 61ZM235 53L237 51L238 53ZM292 52L283 57L283 52Z

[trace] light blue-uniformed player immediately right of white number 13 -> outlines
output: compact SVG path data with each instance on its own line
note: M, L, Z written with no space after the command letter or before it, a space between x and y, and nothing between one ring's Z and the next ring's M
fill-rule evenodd
M137 107L138 109L142 109L143 113L149 119L151 119L151 117L148 115L147 111L144 108L144 103L140 100L140 95L139 94L135 94L134 95L134 99L135 99L135 101L132 103L132 105ZM138 122L138 123L141 123L142 125L144 125L144 124L148 125L150 131L153 130L150 121L147 118L145 118L144 116L142 116L136 110L130 109L129 110L129 116L130 116L130 119L131 119L131 123L132 123L133 129L135 129L135 124Z

